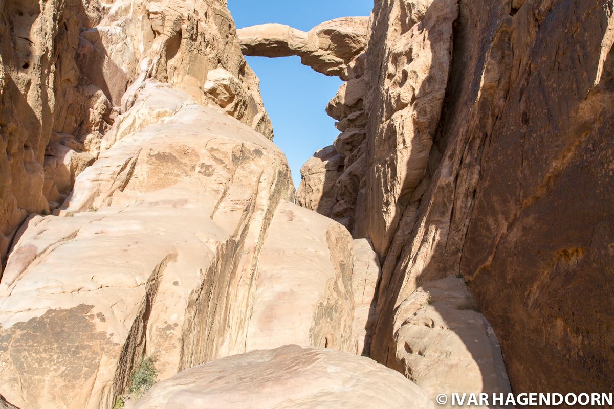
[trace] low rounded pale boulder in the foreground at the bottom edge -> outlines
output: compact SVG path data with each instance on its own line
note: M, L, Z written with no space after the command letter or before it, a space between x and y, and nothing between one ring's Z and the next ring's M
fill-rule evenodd
M366 357L286 345L185 370L153 386L136 406L169 407L427 409L433 404L418 386Z

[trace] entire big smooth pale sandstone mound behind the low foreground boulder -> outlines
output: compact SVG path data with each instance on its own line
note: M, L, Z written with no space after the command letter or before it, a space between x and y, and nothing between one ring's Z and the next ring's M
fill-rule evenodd
M117 126L58 216L31 218L10 254L0 377L12 402L112 407L144 355L163 380L287 342L363 349L371 312L352 281L369 294L379 270L365 243L355 264L342 226L284 202L278 148L152 80Z

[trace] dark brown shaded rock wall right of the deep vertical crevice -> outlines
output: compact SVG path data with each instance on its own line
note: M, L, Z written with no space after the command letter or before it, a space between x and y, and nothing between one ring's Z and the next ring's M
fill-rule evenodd
M461 274L515 392L597 392L612 384L603 365L614 362L599 301L614 273L612 209L602 207L614 194L603 165L613 152L612 2L487 3L461 2L424 194L398 224L378 310L394 310L419 282ZM386 314L374 337L380 362L395 348Z

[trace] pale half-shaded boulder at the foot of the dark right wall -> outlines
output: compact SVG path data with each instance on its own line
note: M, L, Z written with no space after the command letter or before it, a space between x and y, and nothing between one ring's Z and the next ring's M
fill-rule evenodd
M423 284L394 316L397 362L389 365L433 402L441 393L511 393L499 341L462 278Z

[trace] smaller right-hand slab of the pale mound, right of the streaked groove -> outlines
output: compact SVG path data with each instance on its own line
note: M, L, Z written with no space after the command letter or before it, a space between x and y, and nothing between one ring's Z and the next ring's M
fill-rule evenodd
M258 261L246 350L286 343L354 350L353 264L352 238L340 224L279 204Z

